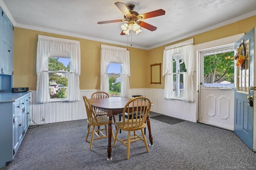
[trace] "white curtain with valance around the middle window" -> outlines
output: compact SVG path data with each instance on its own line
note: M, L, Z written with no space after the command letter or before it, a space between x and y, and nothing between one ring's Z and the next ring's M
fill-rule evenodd
M121 63L121 97L129 97L130 53L125 48L101 45L100 51L100 90L109 93L108 65Z

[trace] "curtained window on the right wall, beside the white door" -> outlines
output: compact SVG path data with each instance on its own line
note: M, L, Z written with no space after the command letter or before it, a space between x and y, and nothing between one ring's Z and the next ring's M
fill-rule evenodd
M194 102L194 40L165 47L163 56L164 98Z

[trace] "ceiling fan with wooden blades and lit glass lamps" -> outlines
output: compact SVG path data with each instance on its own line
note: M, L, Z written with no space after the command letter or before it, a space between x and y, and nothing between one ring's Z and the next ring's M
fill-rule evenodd
M162 16L165 14L165 10L162 10L162 9L151 11L145 14L139 14L138 12L134 11L135 4L128 4L126 6L122 2L116 2L115 5L124 14L124 19L101 21L101 22L98 22L98 24L128 21L128 23L124 23L121 25L122 32L120 35L125 35L125 34L129 35L129 30L133 30L136 32L136 34L138 34L142 31L140 27L146 28L150 31L155 31L157 27L140 20Z

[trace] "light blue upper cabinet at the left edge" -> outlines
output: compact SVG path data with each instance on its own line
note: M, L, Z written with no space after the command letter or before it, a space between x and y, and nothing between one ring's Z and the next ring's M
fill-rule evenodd
M13 75L14 27L0 8L0 74Z

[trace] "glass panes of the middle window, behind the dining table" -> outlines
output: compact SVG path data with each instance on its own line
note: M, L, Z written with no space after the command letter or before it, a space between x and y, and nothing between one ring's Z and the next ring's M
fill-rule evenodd
M108 66L107 73L110 96L121 96L121 64L110 63Z

